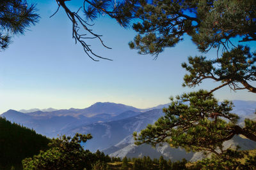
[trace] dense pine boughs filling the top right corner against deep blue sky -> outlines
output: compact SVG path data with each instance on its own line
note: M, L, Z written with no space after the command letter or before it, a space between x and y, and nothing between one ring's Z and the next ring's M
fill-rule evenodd
M148 1L138 8L140 21L133 25L138 35L129 45L139 53L158 55L188 34L201 52L220 45L227 50L230 38L256 40L255 12L253 0Z

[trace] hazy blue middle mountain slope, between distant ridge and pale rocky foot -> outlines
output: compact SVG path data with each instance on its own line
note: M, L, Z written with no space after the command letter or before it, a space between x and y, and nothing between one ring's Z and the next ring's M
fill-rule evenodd
M134 131L139 132L148 124L154 123L161 116L163 116L162 110L150 110L122 120L81 125L70 131L65 131L65 133L70 136L76 134L76 132L92 134L93 139L86 142L86 148L95 152L98 149L102 150L116 145Z

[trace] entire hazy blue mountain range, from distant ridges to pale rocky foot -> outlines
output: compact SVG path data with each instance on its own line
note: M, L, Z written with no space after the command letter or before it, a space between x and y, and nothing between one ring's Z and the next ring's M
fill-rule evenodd
M255 101L233 101L233 113L237 113L243 125L246 117L255 118ZM1 115L7 120L22 124L36 132L50 138L67 134L73 136L76 132L90 133L93 139L86 142L84 147L95 152L101 150L115 157L143 157L148 155L159 158L161 155L166 159L181 160L186 158L191 161L202 159L202 153L186 153L180 148L170 148L163 144L152 148L150 145L134 145L132 133L140 132L148 124L153 124L163 116L163 107L168 104L148 109L138 109L132 106L116 103L95 103L84 109L70 108L68 110L32 110L15 111L8 110ZM234 137L225 145L239 145L243 149L254 149L256 143L239 136Z

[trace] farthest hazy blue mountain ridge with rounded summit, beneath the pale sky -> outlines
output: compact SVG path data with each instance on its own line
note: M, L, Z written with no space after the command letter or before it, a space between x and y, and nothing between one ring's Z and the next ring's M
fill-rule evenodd
M123 111L123 112L122 112ZM1 115L7 120L35 129L36 132L49 137L65 134L79 125L96 122L108 122L140 114L140 109L124 104L95 103L85 109L54 110L49 112L33 111L22 113L8 110Z

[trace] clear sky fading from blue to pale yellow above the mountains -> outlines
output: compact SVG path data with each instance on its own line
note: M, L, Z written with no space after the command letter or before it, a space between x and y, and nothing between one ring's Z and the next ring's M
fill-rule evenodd
M0 113L31 108L86 108L96 102L122 103L136 108L150 108L169 103L170 96L198 89L211 90L218 83L207 80L190 89L182 87L186 71L181 63L189 55L216 57L216 51L205 54L196 49L188 36L174 48L166 48L157 60L152 55L139 55L128 46L136 32L124 29L108 17L98 18L92 29L102 40L91 40L93 52L113 59L95 62L72 39L72 25L56 1L33 1L40 21L24 35L15 36L9 48L0 52ZM81 1L67 1L78 9ZM249 44L256 50L256 45ZM224 87L215 97L256 101L255 94Z

